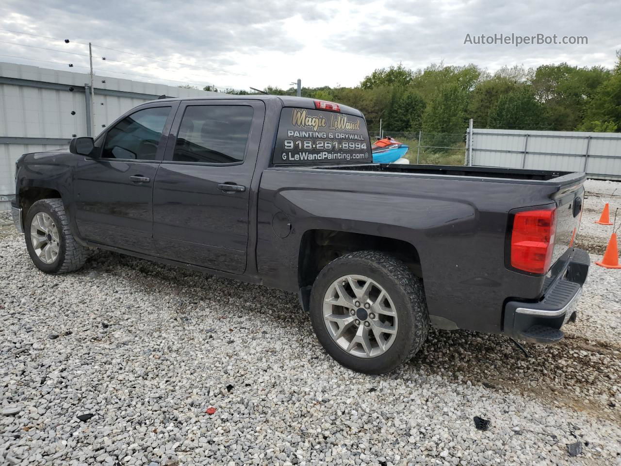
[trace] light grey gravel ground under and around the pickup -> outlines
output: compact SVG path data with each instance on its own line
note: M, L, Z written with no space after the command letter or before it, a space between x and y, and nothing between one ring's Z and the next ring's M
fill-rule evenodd
M587 182L592 260L616 186ZM45 275L10 226L0 283L2 465L621 464L621 270L591 268L561 344L432 331L386 376L330 359L282 291L109 252Z

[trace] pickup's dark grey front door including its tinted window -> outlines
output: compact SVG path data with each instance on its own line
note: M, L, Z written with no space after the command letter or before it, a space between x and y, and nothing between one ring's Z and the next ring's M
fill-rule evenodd
M175 103L174 106L178 106ZM153 182L173 119L171 104L148 104L96 140L74 176L75 219L84 239L155 254Z

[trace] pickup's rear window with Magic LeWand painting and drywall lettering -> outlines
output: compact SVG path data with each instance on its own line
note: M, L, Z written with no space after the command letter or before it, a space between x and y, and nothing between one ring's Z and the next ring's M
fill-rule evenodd
M306 108L285 107L281 111L274 165L372 160L363 118Z

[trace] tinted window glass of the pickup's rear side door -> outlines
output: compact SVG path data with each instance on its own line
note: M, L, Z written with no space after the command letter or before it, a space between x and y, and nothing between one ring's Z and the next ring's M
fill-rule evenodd
M176 162L233 163L243 160L253 108L197 105L186 108L179 127Z

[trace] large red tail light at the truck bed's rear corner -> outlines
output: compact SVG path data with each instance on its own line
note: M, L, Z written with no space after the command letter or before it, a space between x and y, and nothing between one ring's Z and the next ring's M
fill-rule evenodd
M552 262L555 210L517 212L511 231L511 267L543 274Z

